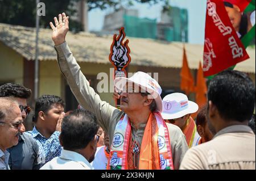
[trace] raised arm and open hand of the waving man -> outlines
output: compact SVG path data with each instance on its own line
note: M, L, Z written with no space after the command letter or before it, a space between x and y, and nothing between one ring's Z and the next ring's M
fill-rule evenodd
M95 113L100 126L108 132L110 117L113 111L117 109L109 103L102 101L100 96L89 86L89 82L84 74L82 74L80 66L77 64L65 41L65 36L69 29L68 20L69 17L63 12L62 15L59 14L59 20L56 17L54 18L55 26L52 22L50 23L52 40L57 51L57 61L60 71L67 79L68 85L71 87L77 101L82 107Z

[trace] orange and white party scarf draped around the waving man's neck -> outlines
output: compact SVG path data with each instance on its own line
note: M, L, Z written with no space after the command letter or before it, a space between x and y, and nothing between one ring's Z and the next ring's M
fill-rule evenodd
M158 117L158 120L156 120L156 116ZM123 120L120 120L120 121L123 121ZM123 148L122 153L121 151L118 151L119 149L116 149L117 151L113 150L115 148L112 147L110 151L108 169L111 169L110 162L111 162L112 155L114 153L117 153L119 158L122 157L122 166L119 165L119 167L116 167L116 168L135 169L134 163L133 163L134 162L133 153L132 153L133 142L131 137L131 129L130 129L129 121L127 126L124 125L124 127L126 127L125 135L129 135L127 137L125 136L126 138L129 138L129 140L125 140L127 144L124 144L127 146ZM130 132L130 134L128 134L127 132ZM157 113L150 114L146 124L146 128L144 129L140 150L141 152L139 157L138 169L143 169L143 170L174 169L174 165L172 162L171 142L170 142L169 132L168 132L168 128L165 121L162 119L162 116L160 116L160 113L157 112ZM117 159L116 156L115 156L115 159Z

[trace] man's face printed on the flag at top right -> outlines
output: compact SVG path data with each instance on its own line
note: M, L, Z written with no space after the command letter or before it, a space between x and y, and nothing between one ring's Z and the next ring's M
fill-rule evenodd
M233 5L233 8L225 6L225 9L226 9L226 12L228 12L228 16L229 16L230 22L232 23L232 26L238 32L240 28L241 18L242 18L242 13L240 12L239 7L236 5Z

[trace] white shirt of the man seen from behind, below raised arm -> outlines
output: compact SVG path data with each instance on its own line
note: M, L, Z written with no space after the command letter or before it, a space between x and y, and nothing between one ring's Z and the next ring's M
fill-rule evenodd
M55 157L40 170L92 170L90 163L75 151L63 150L60 157Z

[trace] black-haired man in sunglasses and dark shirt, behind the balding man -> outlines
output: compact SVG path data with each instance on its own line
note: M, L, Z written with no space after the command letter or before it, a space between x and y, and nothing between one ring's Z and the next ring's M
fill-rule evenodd
M0 86L0 97L11 97L19 104L22 112L22 119L25 121L30 107L27 106L27 99L31 95L31 90L16 83L6 83ZM22 134L26 131L23 123L20 125L19 143L8 149L10 153L9 166L11 170L31 170L39 169L40 158L39 149L36 141L27 134Z

